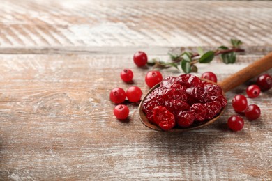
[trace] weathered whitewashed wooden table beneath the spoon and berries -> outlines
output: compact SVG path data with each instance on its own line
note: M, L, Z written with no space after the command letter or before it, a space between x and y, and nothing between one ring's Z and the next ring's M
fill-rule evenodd
M227 93L216 123L183 134L144 127L137 104L116 120L109 91L131 86L123 68L149 91L138 50L167 60L239 38L246 52L235 64L216 58L197 75L241 70L272 52L272 1L1 0L0 9L0 180L271 180L271 91L249 99L262 116L241 132L226 123L248 83Z

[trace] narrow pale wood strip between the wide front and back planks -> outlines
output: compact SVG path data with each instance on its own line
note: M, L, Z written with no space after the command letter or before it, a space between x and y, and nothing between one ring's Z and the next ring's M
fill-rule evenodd
M225 46L231 47L230 42L227 42ZM216 46L199 46L208 51L211 49L217 49ZM272 52L272 45L267 46L241 46L245 49L245 54L252 55L264 55ZM94 54L94 55L133 55L135 49L144 49L149 54L156 54L164 56L166 52L172 52L172 54L179 54L183 51L197 52L197 47L169 47L169 46L126 46L126 47L0 47L0 54Z

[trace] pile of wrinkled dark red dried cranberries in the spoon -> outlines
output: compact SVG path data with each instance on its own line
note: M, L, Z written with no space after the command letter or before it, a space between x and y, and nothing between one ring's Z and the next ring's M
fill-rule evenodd
M227 105L220 86L192 74L166 77L144 100L146 118L163 130L211 120Z

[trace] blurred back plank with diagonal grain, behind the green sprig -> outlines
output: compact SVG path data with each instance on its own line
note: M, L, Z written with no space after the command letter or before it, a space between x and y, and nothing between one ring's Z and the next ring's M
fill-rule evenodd
M272 1L1 1L1 47L271 45Z

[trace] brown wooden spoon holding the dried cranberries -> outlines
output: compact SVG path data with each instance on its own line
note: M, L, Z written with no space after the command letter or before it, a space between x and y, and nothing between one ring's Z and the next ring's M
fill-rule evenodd
M231 76L227 77L227 79L221 81L218 83L218 85L222 88L223 93L227 93L227 91L232 90L233 88L236 88L236 86L239 86L243 84L245 81L248 81L249 79L257 76L258 74L261 74L262 72L266 72L267 70L272 68L272 52L264 56L263 58L259 59L258 61L255 61L254 63L248 65L246 68L243 68L239 72L236 72L235 74L232 74ZM156 86L153 86L149 90L149 92L144 96L142 99L142 102L139 104L139 118L142 121L142 123L151 129L155 129L157 131L162 131L160 127L157 125L153 125L152 123L147 120L145 113L142 110L144 100L146 100L146 96L149 95L155 88L158 88L160 84L157 84ZM209 125L213 122L215 122L225 111L225 108L221 110L221 112L216 116L215 118L211 120L205 121L201 125L196 125L193 127L187 127L187 128L174 128L170 129L168 132L187 132L192 129L198 129L200 127L204 127L206 125Z

